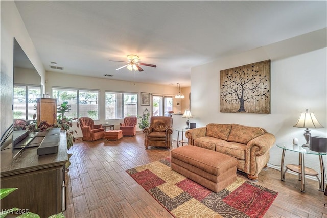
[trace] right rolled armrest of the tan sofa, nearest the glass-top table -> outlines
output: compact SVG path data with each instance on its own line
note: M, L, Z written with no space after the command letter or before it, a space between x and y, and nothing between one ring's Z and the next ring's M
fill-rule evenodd
M276 139L275 136L271 133L266 132L265 134L253 138L251 141L249 141L246 145L246 153L250 154L250 150L254 147L257 147L255 149L255 155L260 156L265 154L270 150L270 148L275 143Z

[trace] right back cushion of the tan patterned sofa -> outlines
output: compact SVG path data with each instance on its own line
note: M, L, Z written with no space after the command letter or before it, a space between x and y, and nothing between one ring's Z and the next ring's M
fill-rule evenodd
M259 127L247 127L239 124L232 124L227 141L247 144L253 138L265 134L265 130Z

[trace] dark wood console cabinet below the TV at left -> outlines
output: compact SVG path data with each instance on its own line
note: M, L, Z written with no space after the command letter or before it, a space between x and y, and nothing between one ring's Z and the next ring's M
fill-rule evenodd
M40 217L65 210L66 133L60 132L58 153L37 155L25 148L12 159L11 149L1 151L1 188L18 188L1 200L1 209L18 207Z

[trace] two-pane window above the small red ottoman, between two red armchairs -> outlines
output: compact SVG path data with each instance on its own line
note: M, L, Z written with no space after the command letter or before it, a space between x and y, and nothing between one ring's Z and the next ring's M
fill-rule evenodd
M106 91L106 120L137 116L137 93Z

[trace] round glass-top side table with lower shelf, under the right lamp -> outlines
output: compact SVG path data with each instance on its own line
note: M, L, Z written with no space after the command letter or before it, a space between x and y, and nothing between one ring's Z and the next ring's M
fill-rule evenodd
M300 190L302 192L305 192L305 175L310 175L310 176L316 176L319 182L319 191L324 191L325 187L325 167L323 164L323 155L327 155L327 152L315 152L310 150L308 147L301 147L296 144L277 144L277 147L283 149L282 153L282 158L281 158L281 180L285 181L285 173L288 169L290 171L298 173L298 180L301 181L301 188ZM299 154L298 156L298 165L295 164L287 164L285 167L284 171L284 157L285 157L285 151L292 151L292 152L297 152ZM320 162L320 179L318 177L318 172L316 172L314 169L311 169L309 167L305 167L305 158L304 154L309 154L309 155L319 155L319 162ZM303 172L303 173L302 173Z

